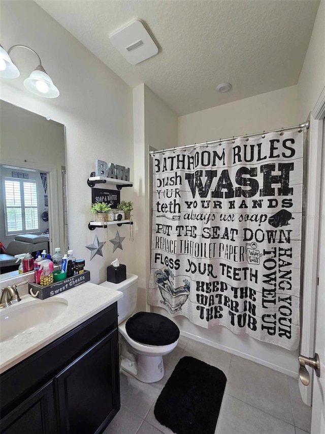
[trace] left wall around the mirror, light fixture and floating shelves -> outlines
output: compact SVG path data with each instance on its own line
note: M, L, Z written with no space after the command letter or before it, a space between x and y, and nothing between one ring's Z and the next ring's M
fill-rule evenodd
M137 239L129 241L128 225L88 229L92 220L91 191L86 184L96 159L130 167L133 179L132 89L34 2L1 2L1 28L4 48L24 44L37 51L60 90L59 98L54 100L26 91L22 85L26 64L29 74L37 60L27 50L12 51L21 77L1 80L1 98L66 125L70 247L76 257L86 260L94 283L106 280L106 267L116 256L126 264L128 272L136 272ZM133 189L126 193L124 190L121 197L132 200ZM113 254L109 240L117 229L125 239L123 250ZM96 255L90 262L90 251L85 246L93 242L95 235L106 241L104 257Z

